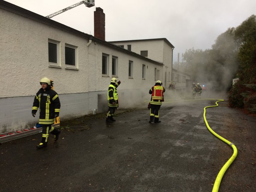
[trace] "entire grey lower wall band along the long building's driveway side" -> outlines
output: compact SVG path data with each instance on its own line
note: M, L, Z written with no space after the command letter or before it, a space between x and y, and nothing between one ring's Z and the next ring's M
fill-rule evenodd
M149 89L118 90L119 109L146 108ZM108 111L107 91L60 94L60 121ZM145 102L147 100L147 102ZM34 96L0 98L0 133L34 126L39 119L31 114Z

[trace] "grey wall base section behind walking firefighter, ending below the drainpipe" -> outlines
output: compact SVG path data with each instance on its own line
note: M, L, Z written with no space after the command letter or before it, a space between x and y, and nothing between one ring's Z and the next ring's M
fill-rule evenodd
M88 93L61 94L60 119L74 118L88 114ZM31 114L34 96L0 98L0 133L25 129L38 123Z

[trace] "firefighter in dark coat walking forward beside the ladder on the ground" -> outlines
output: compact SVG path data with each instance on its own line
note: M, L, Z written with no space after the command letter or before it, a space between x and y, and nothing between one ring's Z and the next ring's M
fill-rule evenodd
M48 78L40 80L42 88L39 89L34 97L32 116L35 117L36 112L39 110L39 124L42 124L42 140L37 145L38 149L47 146L49 133L54 135L54 141L59 139L60 130L52 127L54 119L59 116L60 100L58 94L52 90L51 82Z

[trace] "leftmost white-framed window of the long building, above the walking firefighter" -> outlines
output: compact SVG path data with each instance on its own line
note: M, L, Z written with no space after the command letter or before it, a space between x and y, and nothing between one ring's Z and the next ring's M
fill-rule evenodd
M60 42L48 40L49 66L60 66Z

